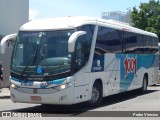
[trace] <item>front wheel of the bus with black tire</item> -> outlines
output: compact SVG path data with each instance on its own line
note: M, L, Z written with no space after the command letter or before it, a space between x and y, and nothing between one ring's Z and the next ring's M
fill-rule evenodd
M95 83L92 88L91 99L87 102L90 107L97 107L102 101L102 87L98 83Z

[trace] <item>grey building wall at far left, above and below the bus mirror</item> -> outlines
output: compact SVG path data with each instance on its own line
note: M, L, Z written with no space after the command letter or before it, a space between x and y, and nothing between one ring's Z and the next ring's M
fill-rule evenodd
M0 0L0 40L8 34L17 33L29 21L29 0ZM10 58L12 46L7 45L4 55L0 54L3 71L3 87L9 86Z

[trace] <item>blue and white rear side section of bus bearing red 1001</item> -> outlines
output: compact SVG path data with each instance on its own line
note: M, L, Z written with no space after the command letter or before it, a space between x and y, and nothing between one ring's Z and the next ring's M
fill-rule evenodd
M144 74L148 74L149 85L156 83L157 57L153 54L117 54L121 61L120 92L142 87Z

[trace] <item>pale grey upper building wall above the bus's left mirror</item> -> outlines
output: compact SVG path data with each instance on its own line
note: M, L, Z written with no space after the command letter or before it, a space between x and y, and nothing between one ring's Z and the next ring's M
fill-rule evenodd
M29 0L0 0L0 34L16 33L29 20Z

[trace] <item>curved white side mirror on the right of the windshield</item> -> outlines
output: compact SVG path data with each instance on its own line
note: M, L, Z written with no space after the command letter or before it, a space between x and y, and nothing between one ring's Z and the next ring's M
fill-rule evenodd
M81 35L85 35L86 32L85 31L77 31L75 33L73 33L70 38L69 38L69 41L68 41L68 52L71 53L71 52L74 52L74 48L75 48L75 43L76 43L76 40L79 36Z

